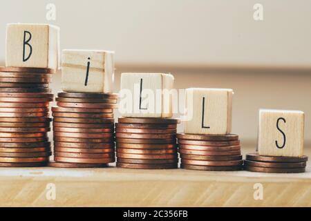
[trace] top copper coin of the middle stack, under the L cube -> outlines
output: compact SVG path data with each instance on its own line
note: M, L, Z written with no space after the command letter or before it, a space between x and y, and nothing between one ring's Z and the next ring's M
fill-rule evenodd
M117 121L121 124L178 124L180 123L180 119L172 119L172 118L119 117Z

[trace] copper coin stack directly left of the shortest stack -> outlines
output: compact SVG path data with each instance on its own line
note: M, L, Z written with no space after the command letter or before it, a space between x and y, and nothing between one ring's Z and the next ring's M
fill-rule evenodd
M238 171L242 169L238 135L193 135L180 133L178 151L183 169Z

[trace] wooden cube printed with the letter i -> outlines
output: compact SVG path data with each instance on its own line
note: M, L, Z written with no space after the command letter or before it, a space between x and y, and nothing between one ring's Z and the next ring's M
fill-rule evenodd
M114 52L63 50L62 90L82 93L112 93Z

